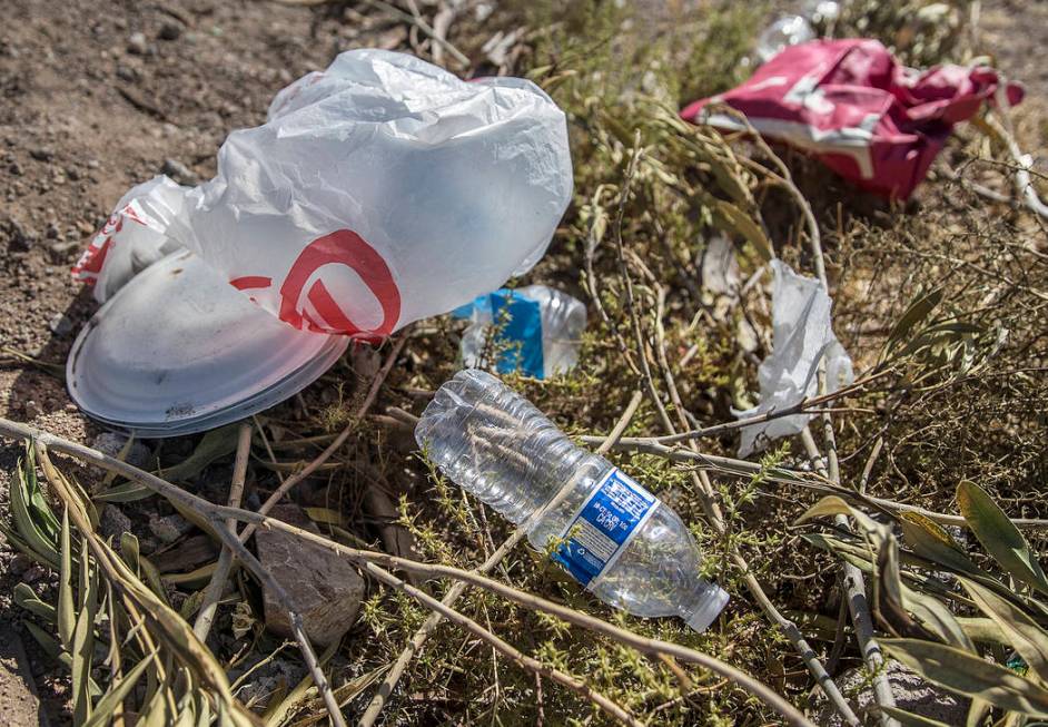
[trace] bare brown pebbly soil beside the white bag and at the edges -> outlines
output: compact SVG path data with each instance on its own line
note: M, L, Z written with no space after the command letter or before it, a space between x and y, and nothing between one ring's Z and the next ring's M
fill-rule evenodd
M1048 6L983 2L981 27L1001 70L1027 81L1031 99L1048 98L1039 52ZM261 122L280 87L340 50L399 42L403 33L362 30L327 9L256 0L0 3L0 415L92 441L100 430L61 379L11 352L63 364L96 307L68 271L119 197L161 170L209 177L226 134ZM19 454L0 443L0 510ZM0 544L0 620L10 630L20 630L13 586L39 589L48 578ZM55 666L22 641L51 724L61 724ZM19 694L0 688L0 721L36 724L36 705Z

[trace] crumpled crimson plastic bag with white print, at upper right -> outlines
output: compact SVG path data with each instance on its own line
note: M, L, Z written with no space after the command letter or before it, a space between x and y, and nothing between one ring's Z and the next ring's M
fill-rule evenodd
M706 109L724 104L760 134L813 153L837 174L876 194L906 199L921 183L955 124L971 118L998 89L1011 105L1022 88L986 66L900 65L880 42L813 40L791 46L725 94L690 104L681 117L744 129Z

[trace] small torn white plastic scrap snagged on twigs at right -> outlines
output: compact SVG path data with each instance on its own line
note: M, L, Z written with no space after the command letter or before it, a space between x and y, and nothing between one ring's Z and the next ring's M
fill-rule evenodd
M793 406L818 395L819 362L825 356L827 392L851 384L851 357L833 335L830 296L822 283L772 261L772 353L761 362L761 403L732 413L740 420ZM798 434L814 414L791 414L742 428L739 456L763 450L772 440Z

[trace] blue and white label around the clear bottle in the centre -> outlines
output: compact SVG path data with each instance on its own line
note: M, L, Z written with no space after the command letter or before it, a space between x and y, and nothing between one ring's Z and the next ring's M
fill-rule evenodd
M582 509L561 533L566 540L553 553L553 560L592 589L629 547L658 504L655 495L613 468L593 488Z

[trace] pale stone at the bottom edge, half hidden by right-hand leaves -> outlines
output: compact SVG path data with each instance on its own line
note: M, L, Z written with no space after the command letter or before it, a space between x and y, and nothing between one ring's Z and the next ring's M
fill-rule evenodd
M886 669L896 698L896 707L947 725L965 724L968 707L971 704L970 699L959 697L926 681L898 661L889 660ZM844 695L856 695L858 691L858 695L851 697L849 703L860 719L873 711L877 703L873 700L873 687L870 686L864 669L849 669L836 681ZM817 721L828 727L839 727L843 724L841 716L829 704L823 706ZM870 719L870 724L873 721Z

